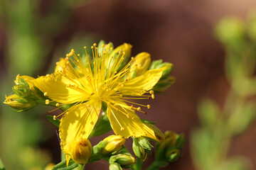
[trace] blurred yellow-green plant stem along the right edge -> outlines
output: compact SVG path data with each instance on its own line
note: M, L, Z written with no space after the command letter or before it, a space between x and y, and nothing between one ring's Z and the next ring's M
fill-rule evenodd
M239 18L223 18L215 26L215 36L225 47L225 73L230 91L223 108L211 99L199 103L201 128L193 130L191 152L196 169L252 169L244 157L228 157L230 141L255 120L256 94L256 13L247 23Z

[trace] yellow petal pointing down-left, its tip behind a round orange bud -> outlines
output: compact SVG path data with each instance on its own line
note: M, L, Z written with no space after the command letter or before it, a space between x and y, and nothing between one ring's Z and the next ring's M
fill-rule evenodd
M101 101L89 101L70 108L60 119L60 147L64 154L70 154L74 140L87 139L97 122Z

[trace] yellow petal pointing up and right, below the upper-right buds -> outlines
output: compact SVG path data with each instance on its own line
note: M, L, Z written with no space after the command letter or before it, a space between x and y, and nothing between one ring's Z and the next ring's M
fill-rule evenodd
M121 91L124 91L122 94L137 96L139 94L144 94L144 91L151 90L159 79L161 79L164 69L165 67L161 69L151 69L139 77L126 81L124 86L120 88Z

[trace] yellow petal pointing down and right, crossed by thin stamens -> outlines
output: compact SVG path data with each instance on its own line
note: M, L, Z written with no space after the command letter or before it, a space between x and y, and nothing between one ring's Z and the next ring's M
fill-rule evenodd
M154 135L154 130L142 123L139 116L129 108L108 105L107 118L109 118L116 135L121 135L125 138L144 136L159 141Z

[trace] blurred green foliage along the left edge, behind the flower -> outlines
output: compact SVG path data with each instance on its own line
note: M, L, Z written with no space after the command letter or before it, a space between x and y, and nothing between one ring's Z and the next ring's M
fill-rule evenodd
M3 18L0 24L6 28L5 57L8 64L4 77L0 77L1 91L6 95L11 93L10 86L14 85L16 74L38 74L50 52L54 56L58 54L58 57L65 57L65 53L60 54L59 49L68 52L63 47L67 48L69 45L65 42L53 45L53 38L62 33L73 9L81 2L56 0L42 12L42 1L39 0L0 1L0 18ZM94 35L88 33L74 37L74 48L78 45L81 47L81 41L91 44L91 40L95 39ZM55 61L58 59L55 58ZM4 101L4 94L0 95L0 99ZM6 169L45 169L53 161L50 152L40 147L49 137L55 135L45 125L45 113L46 108L43 106L21 114L4 104L0 105L0 157ZM1 162L0 169L4 169Z

